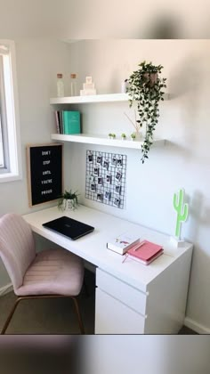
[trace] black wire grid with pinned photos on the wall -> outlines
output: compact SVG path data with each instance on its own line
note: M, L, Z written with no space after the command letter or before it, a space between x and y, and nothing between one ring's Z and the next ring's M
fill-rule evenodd
M125 207L126 155L86 151L85 198Z

